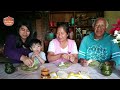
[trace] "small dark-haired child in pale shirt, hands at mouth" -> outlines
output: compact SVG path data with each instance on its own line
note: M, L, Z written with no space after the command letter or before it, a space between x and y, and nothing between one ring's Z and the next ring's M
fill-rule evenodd
M46 55L42 50L42 44L39 39L32 39L30 42L31 53L29 53L29 57L34 60L34 63L31 67L36 64L44 64L46 61Z

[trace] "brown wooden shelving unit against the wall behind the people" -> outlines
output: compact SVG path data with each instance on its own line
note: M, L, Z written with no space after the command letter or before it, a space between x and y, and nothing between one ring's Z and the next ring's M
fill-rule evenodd
M82 30L93 31L92 23L94 22L94 19L97 17L104 17L104 11L50 11L49 21L53 21L56 24L49 28L56 30L57 22L69 22L71 24L71 17L74 18L75 25L69 26L69 28L72 28L74 32L74 40L77 41L79 32L76 32L76 29L81 28L81 32ZM82 38L84 36L85 34L82 35ZM79 40L82 38L79 38ZM77 44L79 44L79 42Z

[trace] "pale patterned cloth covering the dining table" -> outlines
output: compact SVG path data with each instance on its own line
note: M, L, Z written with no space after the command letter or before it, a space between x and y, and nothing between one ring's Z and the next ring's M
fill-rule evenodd
M22 71L20 70L18 64L15 64L14 66L17 68L16 72L12 74L6 74L4 71L4 68L5 68L4 64L0 64L0 79L40 79L40 75L41 75L40 71L44 67L48 68L50 72L57 72L59 70L63 70L67 73L81 72L81 73L87 74L92 79L120 79L120 71L113 70L113 73L110 76L104 76L101 74L98 68L83 67L79 63L72 64L70 67L66 69L60 69L52 63L45 63L42 66L40 66L40 68L37 71L34 71L34 72Z

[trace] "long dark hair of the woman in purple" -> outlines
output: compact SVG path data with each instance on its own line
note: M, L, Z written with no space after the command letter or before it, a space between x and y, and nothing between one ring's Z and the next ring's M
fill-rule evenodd
M19 35L19 29L22 25L26 26L28 28L28 30L30 31L30 35L26 39L25 43L22 42L21 37ZM34 31L32 28L32 24L29 20L21 20L20 22L18 22L17 34L16 34L16 37L17 37L16 47L21 47L22 45L24 45L26 48L29 48L29 43L30 43L31 39L36 38L33 36L34 36Z

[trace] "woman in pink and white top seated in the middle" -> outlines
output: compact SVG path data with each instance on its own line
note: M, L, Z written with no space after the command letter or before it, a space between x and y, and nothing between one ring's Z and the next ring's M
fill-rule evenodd
M65 24L57 28L56 38L48 46L48 61L58 64L60 62L78 62L78 50L74 40L68 39L68 27Z

